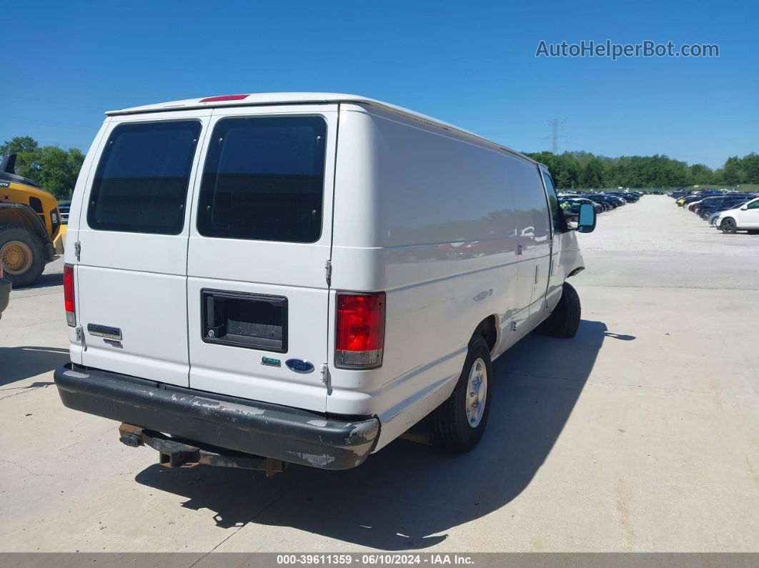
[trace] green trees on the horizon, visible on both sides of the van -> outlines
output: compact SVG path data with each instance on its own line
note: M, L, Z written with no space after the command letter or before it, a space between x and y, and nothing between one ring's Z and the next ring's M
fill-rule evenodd
M590 152L524 152L548 166L561 190L603 187L687 187L759 184L759 154L727 158L722 168L688 165L666 155L607 158ZM39 146L31 137L15 137L0 146L0 155L17 154L16 173L36 181L56 196L70 196L84 154L77 148Z

